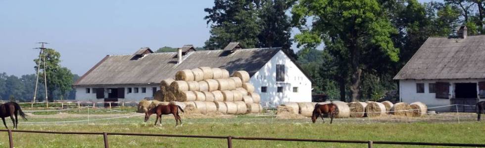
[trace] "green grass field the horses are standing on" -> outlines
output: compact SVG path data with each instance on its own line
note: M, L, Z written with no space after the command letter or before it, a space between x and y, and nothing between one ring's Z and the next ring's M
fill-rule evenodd
M119 110L119 109L116 109ZM25 109L28 112L27 109ZM123 111L134 111L124 109ZM60 112L60 113L59 113ZM334 119L334 124L313 124L309 118L277 119L272 116L223 116L205 118L203 115L182 115L184 124L175 126L172 116L163 116L162 125L154 126L155 116L143 122L143 115L110 120L107 117L133 115L129 112L90 109L90 120L67 123L39 123L50 121L86 120L87 109L34 112L28 121L19 123L19 130L125 132L184 135L247 136L275 138L308 138L333 140L374 140L436 143L485 143L485 122L476 122L474 114L429 116L421 118L345 118ZM113 113L115 112L115 113ZM10 119L7 125L11 126ZM37 122L37 123L36 123ZM15 148L100 148L101 135L57 135L13 133ZM165 138L142 136L108 136L111 148L227 148L226 140L201 138ZM364 144L273 142L233 140L234 148L367 148ZM0 134L0 147L8 147L7 133ZM374 145L375 148L423 148L423 146ZM425 147L434 148L434 147Z

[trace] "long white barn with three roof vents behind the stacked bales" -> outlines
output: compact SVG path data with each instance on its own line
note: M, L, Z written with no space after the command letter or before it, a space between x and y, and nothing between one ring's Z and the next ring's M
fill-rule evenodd
M185 45L178 52L142 48L133 55L107 55L75 82L76 100L140 101L153 97L161 80L197 67L247 71L263 106L312 99L310 77L281 48L242 49L233 42L224 50Z

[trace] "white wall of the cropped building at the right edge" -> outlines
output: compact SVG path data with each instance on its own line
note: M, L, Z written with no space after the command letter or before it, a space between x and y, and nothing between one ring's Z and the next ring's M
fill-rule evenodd
M437 99L435 93L429 92L429 84L436 82L449 82L449 98L454 98L454 83L478 83L479 81L484 81L485 79L436 79L436 80L399 80L399 98L402 102L413 103L420 101L426 104L428 107L446 106L450 105L450 99ZM416 83L424 83L425 92L416 93ZM477 87L477 93L478 93ZM477 94L478 96L478 94ZM480 99L480 101L485 101L485 99ZM450 107L430 109L434 111L449 111Z

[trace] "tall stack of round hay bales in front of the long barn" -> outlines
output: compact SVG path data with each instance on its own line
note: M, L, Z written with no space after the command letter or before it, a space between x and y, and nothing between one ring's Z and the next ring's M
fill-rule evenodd
M182 70L175 79L160 82L160 93L164 102L193 105L203 114L221 112L225 114L259 113L261 97L249 83L249 74L237 71L230 76L229 71L219 68L199 67Z

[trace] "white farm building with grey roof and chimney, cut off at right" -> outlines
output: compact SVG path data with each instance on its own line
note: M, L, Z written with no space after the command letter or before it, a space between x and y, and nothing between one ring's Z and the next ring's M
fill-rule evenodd
M429 37L394 79L399 80L399 97L405 103L475 105L485 100L485 35L467 37L466 27L461 27L458 37ZM460 106L458 111L475 107Z

